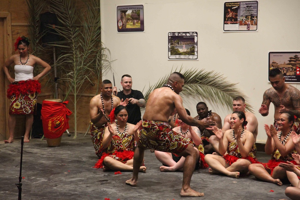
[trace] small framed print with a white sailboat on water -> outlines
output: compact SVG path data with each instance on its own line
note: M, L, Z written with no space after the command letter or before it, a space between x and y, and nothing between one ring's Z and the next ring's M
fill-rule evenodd
M197 60L198 33L197 32L169 32L169 59L170 60Z

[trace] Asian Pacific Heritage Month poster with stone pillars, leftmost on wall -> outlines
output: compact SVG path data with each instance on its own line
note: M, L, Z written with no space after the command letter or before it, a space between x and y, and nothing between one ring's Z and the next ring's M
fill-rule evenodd
M117 30L124 32L144 31L144 6L117 6Z

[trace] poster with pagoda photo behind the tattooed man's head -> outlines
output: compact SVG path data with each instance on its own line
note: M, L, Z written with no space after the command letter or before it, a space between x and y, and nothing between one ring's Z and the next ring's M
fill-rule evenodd
M269 52L269 72L274 68L279 69L285 82L300 82L299 55L300 52Z

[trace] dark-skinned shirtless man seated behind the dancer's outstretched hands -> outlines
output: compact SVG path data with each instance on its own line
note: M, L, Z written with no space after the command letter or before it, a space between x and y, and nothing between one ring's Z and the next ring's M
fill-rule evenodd
M194 117L194 119L202 120L205 118L209 118L212 121L216 122L216 127L218 127L219 129L222 128L221 117L217 113L211 112L211 110L208 110L206 103L204 103L204 102L197 103L196 109L197 109L198 115L196 117ZM214 148L209 143L209 137L213 136L214 133L212 132L212 130L208 130L204 127L198 127L198 128L201 131L201 139L202 139L202 143L204 146L204 154L212 154L214 152Z

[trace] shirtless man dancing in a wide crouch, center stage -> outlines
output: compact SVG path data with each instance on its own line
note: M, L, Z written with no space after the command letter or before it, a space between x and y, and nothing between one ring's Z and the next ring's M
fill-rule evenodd
M190 180L196 165L197 151L179 133L169 128L168 120L174 115L174 109L180 119L190 126L214 126L211 120L199 121L187 115L179 93L184 85L184 76L174 72L170 75L164 87L155 89L148 98L143 123L140 127L139 141L134 151L134 169L131 179L126 184L137 185L140 165L143 162L144 151L152 148L158 151L170 152L184 156L183 183L180 196L204 196L204 193L196 192L190 188ZM173 114L171 114L173 112Z

